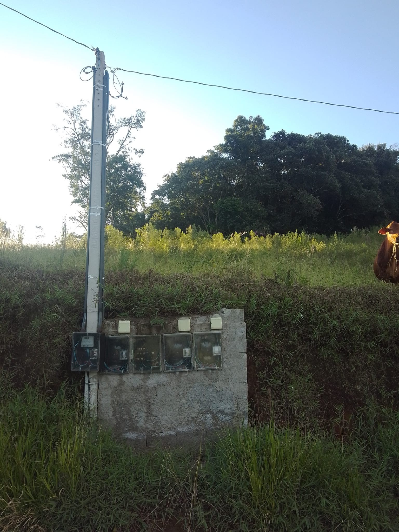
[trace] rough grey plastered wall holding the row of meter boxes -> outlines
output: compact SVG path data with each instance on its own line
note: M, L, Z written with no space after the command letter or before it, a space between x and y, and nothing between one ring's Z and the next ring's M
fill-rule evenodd
M98 418L127 443L139 448L196 444L225 427L247 425L246 326L244 311L191 316L190 332L210 331L210 318L222 318L222 369L98 375ZM126 319L126 318L124 318ZM162 326L130 320L134 335L178 332L178 318ZM118 320L103 324L118 334ZM130 350L132 341L130 340ZM132 357L132 353L130 353Z

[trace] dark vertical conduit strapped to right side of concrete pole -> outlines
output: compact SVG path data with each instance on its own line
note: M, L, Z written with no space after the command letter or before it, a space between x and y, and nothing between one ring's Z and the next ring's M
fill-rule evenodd
M106 185L106 140L107 140L107 116L108 116L108 104L109 104L109 73L105 71L103 80L103 151L102 151L102 171L101 171L101 235L100 235L100 261L99 261L99 286L98 286L98 328L101 327L104 319L104 237L105 237L105 185Z

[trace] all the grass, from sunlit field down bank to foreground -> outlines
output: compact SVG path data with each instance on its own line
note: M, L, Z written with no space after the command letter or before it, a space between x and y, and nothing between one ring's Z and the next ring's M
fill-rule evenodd
M399 298L373 276L379 245L107 229L107 317L244 309L251 426L197 454L134 454L82 412L84 243L4 246L0 529L398 530Z

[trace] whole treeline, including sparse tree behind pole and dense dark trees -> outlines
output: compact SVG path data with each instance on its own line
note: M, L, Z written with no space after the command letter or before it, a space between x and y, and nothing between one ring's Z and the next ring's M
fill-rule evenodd
M84 104L62 107L64 153L53 157L69 182L74 218L87 229L91 130ZM105 220L124 235L151 222L157 229L189 226L210 235L253 230L258 234L305 231L331 235L399 220L399 149L358 148L347 138L282 130L266 136L259 116L239 116L224 142L202 157L188 157L164 176L145 204L143 170L134 159L134 131L144 112L114 119L107 135ZM117 140L115 140L117 139Z

